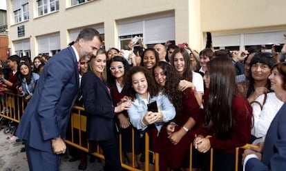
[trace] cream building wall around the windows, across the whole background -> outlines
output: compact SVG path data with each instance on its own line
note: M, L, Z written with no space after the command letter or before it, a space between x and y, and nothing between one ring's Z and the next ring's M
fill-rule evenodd
M69 0L61 0L59 11L42 17L36 17L36 1L29 0L30 19L17 24L12 23L12 0L7 0L7 5L11 52L14 52L15 42L28 40L31 57L38 53L37 39L45 34L59 34L62 49L73 41L69 39L70 30L103 26L106 48L118 47L119 23L164 14L175 17L176 43L188 42L198 50L204 48L205 32L208 31L213 34L213 46L218 42L222 48L238 46L240 49L245 47L249 34L251 37L256 33L262 36L275 34L278 37L281 32L286 32L286 20L283 20L285 0L94 0L72 7ZM25 36L18 37L17 27L23 25ZM252 42L260 43L260 39L257 39L259 35ZM229 39L233 39L233 43L229 43ZM284 43L283 40L281 35L276 42Z

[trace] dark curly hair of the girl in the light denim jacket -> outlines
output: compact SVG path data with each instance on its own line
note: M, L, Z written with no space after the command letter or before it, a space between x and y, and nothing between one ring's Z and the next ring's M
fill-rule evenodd
M151 97L157 96L158 92L159 92L159 87L157 85L157 83L155 83L153 77L151 76L149 70L147 70L146 68L142 67L142 66L133 66L132 68L130 68L130 70L127 72L124 83L127 90L127 95L129 97L131 97L132 100L134 100L136 98L135 94L135 90L132 86L132 76L133 74L136 74L137 72L142 72L145 77L146 77L146 81L148 83L148 92L150 94Z

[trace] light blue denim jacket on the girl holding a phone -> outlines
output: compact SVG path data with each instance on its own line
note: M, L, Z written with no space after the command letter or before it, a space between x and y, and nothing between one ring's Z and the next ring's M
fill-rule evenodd
M175 117L175 108L169 101L168 97L162 93L159 93L158 96L151 97L149 99L149 103L153 101L157 101L158 109L160 109L163 114L163 121L155 123L158 132L160 132L162 125ZM128 116L132 125L138 130L145 130L148 127L148 125L143 125L141 122L146 111L146 103L139 94L136 94L136 99L132 101L132 106L128 109Z

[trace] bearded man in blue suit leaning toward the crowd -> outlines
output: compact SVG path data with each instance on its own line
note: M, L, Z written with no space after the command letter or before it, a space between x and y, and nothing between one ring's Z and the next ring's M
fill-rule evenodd
M28 103L16 135L26 141L30 170L59 170L66 152L66 127L79 92L79 59L89 60L102 45L99 32L84 28L73 46L46 63Z

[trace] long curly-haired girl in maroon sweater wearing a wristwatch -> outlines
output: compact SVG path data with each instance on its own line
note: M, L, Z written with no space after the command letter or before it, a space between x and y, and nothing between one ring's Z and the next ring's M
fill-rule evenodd
M203 119L200 105L191 88L179 90L180 77L169 63L158 63L153 75L177 111L175 119L160 134L163 148L160 152L160 170L166 170L166 167L178 169L184 166L184 160L189 160L189 148L195 138L197 123Z

